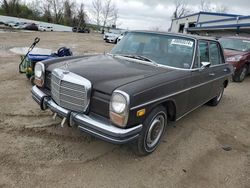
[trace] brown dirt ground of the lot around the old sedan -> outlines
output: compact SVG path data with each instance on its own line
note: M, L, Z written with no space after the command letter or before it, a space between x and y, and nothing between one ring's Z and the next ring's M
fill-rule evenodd
M75 54L113 46L100 34L0 33L0 187L250 187L250 76L230 83L217 107L170 123L160 147L138 157L128 145L61 128L39 109L9 51L36 36L38 47Z

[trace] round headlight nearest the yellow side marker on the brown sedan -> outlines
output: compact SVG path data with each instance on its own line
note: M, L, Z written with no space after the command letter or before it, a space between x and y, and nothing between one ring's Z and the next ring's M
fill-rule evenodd
M115 93L111 101L112 110L115 113L121 114L126 110L126 107L127 107L126 98L120 93Z

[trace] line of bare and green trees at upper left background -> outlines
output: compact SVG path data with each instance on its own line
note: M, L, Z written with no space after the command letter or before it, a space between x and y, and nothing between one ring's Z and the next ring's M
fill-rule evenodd
M0 15L77 27L85 27L91 17L96 29L116 27L118 9L113 0L93 0L88 13L83 3L72 0L0 0Z

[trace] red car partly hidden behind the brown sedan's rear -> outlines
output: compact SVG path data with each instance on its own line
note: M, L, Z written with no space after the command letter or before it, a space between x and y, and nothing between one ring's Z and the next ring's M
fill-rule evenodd
M242 82L250 73L250 39L223 37L219 39L224 48L226 62L233 65L235 82Z

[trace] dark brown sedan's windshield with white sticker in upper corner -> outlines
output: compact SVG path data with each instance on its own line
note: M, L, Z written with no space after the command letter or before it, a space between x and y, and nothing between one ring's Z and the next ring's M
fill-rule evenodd
M192 65L193 39L155 33L127 33L111 51L126 57L143 57L157 64L189 69Z

